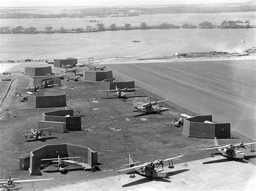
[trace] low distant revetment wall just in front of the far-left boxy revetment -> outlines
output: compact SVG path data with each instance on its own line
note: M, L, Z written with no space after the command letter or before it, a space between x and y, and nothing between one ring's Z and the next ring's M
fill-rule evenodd
M60 77L55 76L35 76L29 78L29 86L41 86L43 82L60 86Z

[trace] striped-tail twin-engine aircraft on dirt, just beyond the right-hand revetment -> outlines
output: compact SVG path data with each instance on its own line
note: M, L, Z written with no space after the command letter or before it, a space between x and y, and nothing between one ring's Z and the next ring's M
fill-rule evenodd
M148 103L137 105L136 101L134 100L133 108L136 108L137 111L140 111L140 112L146 112L146 114L169 110L168 108L163 108L162 102L164 101L167 101L167 100L154 101L154 102L148 102ZM156 104L159 104L159 106L153 106Z

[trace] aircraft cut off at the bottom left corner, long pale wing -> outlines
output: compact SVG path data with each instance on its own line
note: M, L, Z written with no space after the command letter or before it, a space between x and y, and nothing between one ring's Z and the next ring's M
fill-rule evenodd
M19 180L19 179L12 179L11 176L9 179L5 179L5 173L4 173L4 179L0 180L0 185L1 185L1 190L19 190L21 188L18 188L15 183L23 183L23 182L32 182L32 190L34 190L33 188L33 182L35 181L44 181L44 180L52 180L54 178L51 179L31 179L31 180Z

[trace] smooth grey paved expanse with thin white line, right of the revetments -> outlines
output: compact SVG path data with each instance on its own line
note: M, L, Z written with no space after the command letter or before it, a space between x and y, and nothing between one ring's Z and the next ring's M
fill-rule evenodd
M113 74L255 139L255 60L126 63Z

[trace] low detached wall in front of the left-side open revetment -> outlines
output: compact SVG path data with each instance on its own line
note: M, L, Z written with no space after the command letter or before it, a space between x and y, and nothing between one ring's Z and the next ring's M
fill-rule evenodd
M46 129L44 131L64 133L64 132L66 132L66 123L65 122L39 121L38 129L44 129L44 128L53 128L53 129Z

